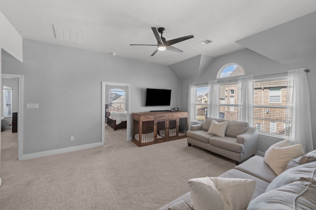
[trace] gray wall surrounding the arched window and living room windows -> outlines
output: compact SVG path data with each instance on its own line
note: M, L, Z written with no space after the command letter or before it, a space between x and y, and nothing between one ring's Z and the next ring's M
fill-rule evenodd
M244 49L231 54L227 54L215 58L209 67L197 79L188 79L181 84L181 110L187 110L188 106L188 90L189 84L207 83L208 81L216 80L217 73L227 63L239 64L245 75L262 76L275 73L285 73L290 69L306 67L311 71L307 74L310 99L311 99L311 117L312 117L312 132L314 149L316 149L316 59L304 60L290 64L280 64L267 57L261 56L251 50ZM265 152L272 144L279 139L270 138L267 136L259 136L258 151Z

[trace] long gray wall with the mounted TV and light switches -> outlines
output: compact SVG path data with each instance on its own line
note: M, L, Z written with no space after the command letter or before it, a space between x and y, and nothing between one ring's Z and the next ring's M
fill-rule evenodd
M2 51L2 73L24 75L24 103L39 104L24 108L23 154L101 142L101 81L131 84L130 112L180 106L168 66L27 39L23 60ZM144 107L146 88L171 89L171 106Z

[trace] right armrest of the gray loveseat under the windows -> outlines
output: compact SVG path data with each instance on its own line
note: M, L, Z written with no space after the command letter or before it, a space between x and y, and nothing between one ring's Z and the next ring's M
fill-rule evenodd
M258 131L255 127L249 127L248 130L238 135L237 143L243 144L245 159L257 152Z

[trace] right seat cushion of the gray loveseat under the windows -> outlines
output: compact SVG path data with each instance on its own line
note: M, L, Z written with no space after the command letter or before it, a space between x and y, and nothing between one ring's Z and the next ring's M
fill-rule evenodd
M214 147L222 148L225 150L235 151L239 153L244 151L243 144L237 143L236 138L228 136L224 138L218 136L210 137L208 143Z

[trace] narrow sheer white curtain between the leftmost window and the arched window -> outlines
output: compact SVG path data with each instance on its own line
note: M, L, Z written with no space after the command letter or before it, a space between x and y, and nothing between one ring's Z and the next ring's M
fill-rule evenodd
M216 80L208 82L208 116L219 118L219 85Z

